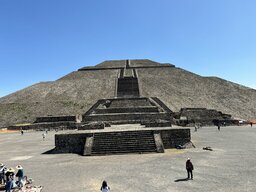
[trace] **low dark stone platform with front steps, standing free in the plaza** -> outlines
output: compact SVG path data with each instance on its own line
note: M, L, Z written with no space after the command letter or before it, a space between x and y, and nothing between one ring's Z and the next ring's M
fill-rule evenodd
M104 130L70 131L55 135L53 153L107 155L121 153L164 152L190 143L190 129L145 128L140 125L119 125Z

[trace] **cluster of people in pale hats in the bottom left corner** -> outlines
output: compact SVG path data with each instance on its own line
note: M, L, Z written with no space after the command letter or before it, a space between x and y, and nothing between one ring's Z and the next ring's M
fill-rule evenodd
M12 167L7 168L3 163L0 163L0 184L5 186L6 192L11 192L14 188L24 186L25 177L24 170L21 165L16 166L17 172Z

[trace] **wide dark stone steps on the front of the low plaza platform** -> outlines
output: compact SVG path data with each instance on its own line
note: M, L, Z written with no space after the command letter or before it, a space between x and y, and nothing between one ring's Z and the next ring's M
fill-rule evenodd
M92 155L157 152L152 131L94 133Z

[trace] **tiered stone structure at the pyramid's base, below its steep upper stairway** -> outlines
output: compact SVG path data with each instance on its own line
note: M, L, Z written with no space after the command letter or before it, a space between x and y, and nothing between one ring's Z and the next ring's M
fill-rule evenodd
M163 103L154 97L101 99L83 115L82 122L101 121L110 124L143 124L152 120L170 122L172 112L161 105Z

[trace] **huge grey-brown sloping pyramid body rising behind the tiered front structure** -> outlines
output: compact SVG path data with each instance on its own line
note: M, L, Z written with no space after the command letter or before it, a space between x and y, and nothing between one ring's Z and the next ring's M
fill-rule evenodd
M240 119L256 118L256 90L138 59L104 61L2 97L0 127L32 123L42 116L83 115L100 99L133 96L157 97L172 112L207 108Z

